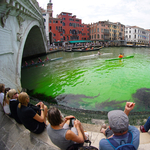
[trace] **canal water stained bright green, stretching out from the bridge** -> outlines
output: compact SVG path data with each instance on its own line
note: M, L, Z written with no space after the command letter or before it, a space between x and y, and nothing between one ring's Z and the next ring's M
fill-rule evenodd
M100 56L97 51L48 54L50 59L63 58L22 68L22 87L74 108L109 111L133 101L134 111L150 111L150 49L108 47L100 52ZM119 53L134 57L106 61Z

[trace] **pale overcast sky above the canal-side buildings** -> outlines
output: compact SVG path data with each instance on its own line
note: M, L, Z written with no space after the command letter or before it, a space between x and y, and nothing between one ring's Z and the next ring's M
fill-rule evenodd
M37 0L46 9L49 0ZM124 25L150 29L150 0L51 0L53 17L69 12L82 23L120 22Z

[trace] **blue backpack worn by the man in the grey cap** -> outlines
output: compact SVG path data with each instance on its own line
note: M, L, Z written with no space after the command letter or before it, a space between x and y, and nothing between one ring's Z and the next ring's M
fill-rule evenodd
M129 133L129 136L128 136L128 140L126 144L122 144L122 142L125 143L125 141L121 140L120 145L119 145L113 138L107 139L107 141L115 150L136 150L135 146L132 144L133 135L130 131L128 133Z

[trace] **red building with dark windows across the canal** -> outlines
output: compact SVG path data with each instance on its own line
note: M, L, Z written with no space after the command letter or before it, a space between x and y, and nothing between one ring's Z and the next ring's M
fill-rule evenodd
M54 22L54 20L58 20ZM53 23L52 23L53 21ZM59 26L57 23L61 23ZM61 12L57 18L50 18L49 27L53 33L53 41L89 40L89 25L82 24L82 20L72 13ZM59 34L57 30L59 29Z

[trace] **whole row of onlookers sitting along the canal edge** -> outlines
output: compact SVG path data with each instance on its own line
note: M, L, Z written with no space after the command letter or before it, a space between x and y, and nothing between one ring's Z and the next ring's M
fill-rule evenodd
M15 89L5 88L3 83L0 83L0 105L6 115L23 124L31 132L40 134L47 129L51 141L62 150L67 150L74 144L81 146L89 139L89 134L84 131L81 122L75 116L64 118L58 108L48 109L43 102L32 105L26 92L17 93ZM140 132L136 127L129 125L128 118L134 107L135 103L127 102L124 111L108 112L109 127L103 125L100 129L106 138L100 140L99 150L114 150L118 146L138 149ZM140 131L148 132L149 129L150 117L140 126Z

